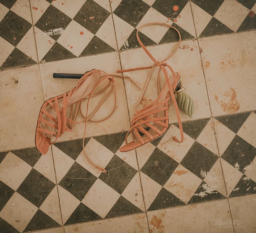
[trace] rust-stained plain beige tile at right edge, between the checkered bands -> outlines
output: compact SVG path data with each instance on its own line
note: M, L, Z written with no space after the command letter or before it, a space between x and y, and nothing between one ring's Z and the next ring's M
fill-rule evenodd
M256 109L256 31L199 40L213 116Z

